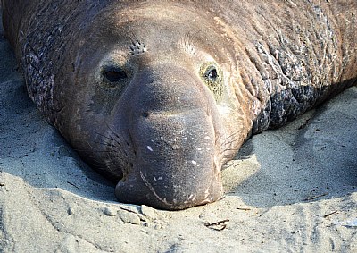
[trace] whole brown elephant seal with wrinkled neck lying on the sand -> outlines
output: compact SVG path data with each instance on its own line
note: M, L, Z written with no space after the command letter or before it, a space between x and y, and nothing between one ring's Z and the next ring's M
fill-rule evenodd
M3 0L29 97L121 202L216 201L245 139L357 79L357 2Z

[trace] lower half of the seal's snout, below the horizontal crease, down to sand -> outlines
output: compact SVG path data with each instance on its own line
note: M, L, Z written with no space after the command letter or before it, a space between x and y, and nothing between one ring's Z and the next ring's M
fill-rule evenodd
M149 114L137 122L131 133L137 160L117 184L120 202L177 210L220 199L214 130L200 121L203 114Z

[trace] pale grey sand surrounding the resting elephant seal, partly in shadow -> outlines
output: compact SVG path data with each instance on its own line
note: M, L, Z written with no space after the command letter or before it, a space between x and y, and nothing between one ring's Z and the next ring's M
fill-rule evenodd
M226 198L166 212L115 202L15 69L0 38L0 252L357 252L356 87L247 141Z

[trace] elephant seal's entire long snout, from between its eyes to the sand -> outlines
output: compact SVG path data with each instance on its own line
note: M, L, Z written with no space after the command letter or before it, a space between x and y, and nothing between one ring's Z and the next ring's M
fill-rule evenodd
M182 75L174 75L173 73ZM118 182L120 202L179 210L222 195L214 98L204 84L175 66L151 67L128 89L129 135L136 159ZM211 100L210 100L211 99Z

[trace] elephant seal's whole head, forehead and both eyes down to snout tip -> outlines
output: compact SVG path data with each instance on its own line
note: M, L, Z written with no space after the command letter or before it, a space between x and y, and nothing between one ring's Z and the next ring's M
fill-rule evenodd
M66 61L73 80L62 83L55 125L89 164L120 180L121 202L183 209L220 199L220 168L247 135L230 123L244 114L223 74L220 31L194 10L182 22L177 9L96 16L73 46L80 54Z

